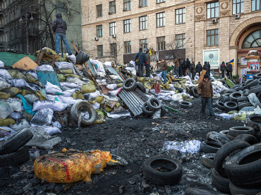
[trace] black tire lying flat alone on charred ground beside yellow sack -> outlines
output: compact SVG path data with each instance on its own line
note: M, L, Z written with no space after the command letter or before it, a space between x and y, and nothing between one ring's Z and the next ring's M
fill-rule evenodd
M160 167L171 171L157 171L156 168ZM183 166L180 161L168 156L152 156L146 159L143 164L143 175L145 179L155 185L175 185L182 179Z

